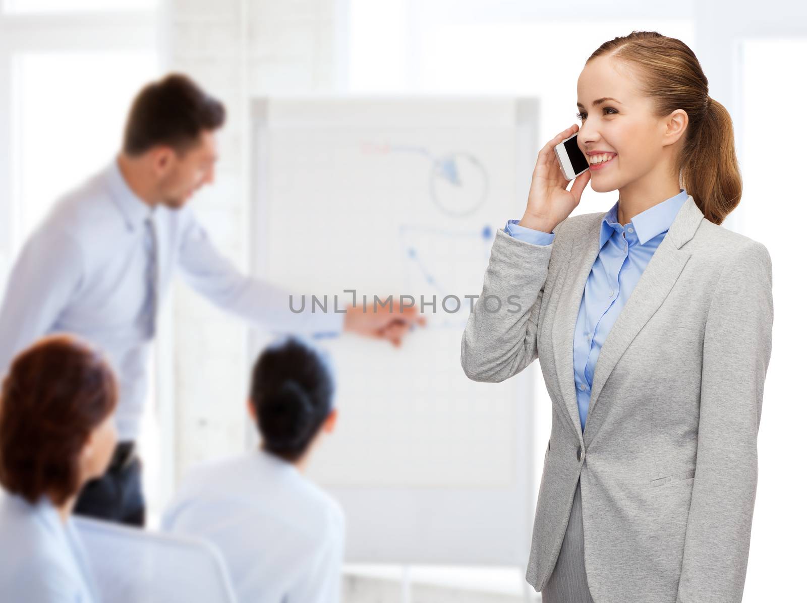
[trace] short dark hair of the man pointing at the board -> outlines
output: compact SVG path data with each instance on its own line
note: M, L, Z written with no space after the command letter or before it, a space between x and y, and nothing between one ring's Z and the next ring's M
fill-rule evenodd
M204 130L224 124L224 105L182 73L169 73L146 85L129 110L123 152L142 155L158 144L182 154Z

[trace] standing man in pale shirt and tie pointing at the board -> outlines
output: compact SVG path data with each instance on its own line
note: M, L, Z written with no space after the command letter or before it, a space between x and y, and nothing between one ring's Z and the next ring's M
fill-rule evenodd
M119 377L121 443L107 474L82 491L77 513L144 524L135 442L148 347L175 269L215 305L270 331L353 331L399 346L413 322L425 322L414 307L392 301L363 311L345 301L349 295L338 312L334 300L327 312L293 312L290 291L243 274L220 255L188 201L213 181L224 114L188 77L172 74L145 86L132 103L121 152L56 203L10 274L0 307L0 374L18 351L61 331L102 347Z

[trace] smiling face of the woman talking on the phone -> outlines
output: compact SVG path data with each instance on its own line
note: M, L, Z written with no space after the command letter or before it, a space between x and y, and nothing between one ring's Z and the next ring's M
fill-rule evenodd
M592 189L599 193L621 189L670 161L667 119L653 114L652 99L636 85L638 74L611 56L588 63L577 80L577 144L592 166ZM600 167L599 153L611 156ZM602 159L602 157L598 157ZM670 165L669 168L672 168Z

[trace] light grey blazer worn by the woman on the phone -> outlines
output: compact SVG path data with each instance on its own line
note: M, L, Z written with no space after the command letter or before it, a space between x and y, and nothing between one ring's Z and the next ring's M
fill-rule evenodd
M567 218L547 246L496 231L462 335L470 379L504 381L537 358L552 403L526 579L540 591L554 569L579 478L597 603L741 601L771 257L690 196L600 350L583 433L572 342L604 214Z

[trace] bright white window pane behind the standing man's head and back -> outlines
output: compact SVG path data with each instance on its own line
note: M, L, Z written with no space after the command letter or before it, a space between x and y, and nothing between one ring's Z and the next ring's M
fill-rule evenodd
M19 248L56 198L115 155L129 103L157 74L157 54L21 52L13 57L12 73Z

